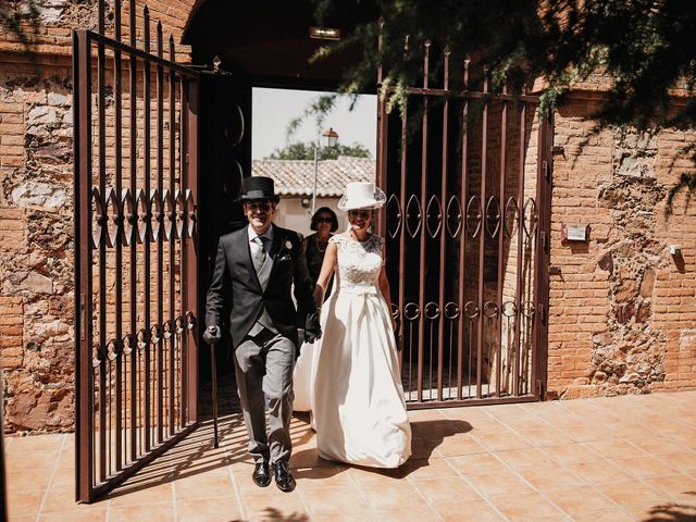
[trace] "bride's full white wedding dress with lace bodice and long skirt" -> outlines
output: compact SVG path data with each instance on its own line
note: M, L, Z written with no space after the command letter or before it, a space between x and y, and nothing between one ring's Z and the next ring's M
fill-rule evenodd
M397 468L411 455L411 426L377 284L384 239L336 235L330 241L338 247L335 289L322 309L321 340L297 361L296 409L311 409L322 458Z

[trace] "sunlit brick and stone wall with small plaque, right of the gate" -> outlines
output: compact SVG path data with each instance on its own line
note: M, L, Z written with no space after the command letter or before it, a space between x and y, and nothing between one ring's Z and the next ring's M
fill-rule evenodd
M696 209L668 190L693 170L675 159L693 134L593 133L597 108L556 117L548 389L563 398L696 387ZM561 239L589 225L589 241ZM683 256L669 246L680 244Z

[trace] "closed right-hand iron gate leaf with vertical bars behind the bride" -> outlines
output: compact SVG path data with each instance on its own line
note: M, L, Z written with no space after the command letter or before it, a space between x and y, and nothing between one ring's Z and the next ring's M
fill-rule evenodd
M410 408L536 400L546 383L552 122L469 59L378 105L393 312ZM382 83L382 70L378 73ZM456 78L456 79L455 79Z

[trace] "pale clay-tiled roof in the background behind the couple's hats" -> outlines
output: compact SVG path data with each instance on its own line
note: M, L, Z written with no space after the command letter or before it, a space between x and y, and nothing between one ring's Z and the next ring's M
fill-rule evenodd
M268 176L275 181L281 196L311 196L314 185L312 160L253 160L252 176ZM375 161L368 158L340 156L318 164L316 196L340 197L349 182L374 182Z

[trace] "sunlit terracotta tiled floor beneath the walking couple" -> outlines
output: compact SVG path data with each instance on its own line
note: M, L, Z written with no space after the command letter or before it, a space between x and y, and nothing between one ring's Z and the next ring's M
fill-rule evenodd
M413 457L376 471L318 458L293 421L291 494L251 482L238 415L126 485L74 504L73 435L8 437L11 521L694 521L696 391L411 412Z

